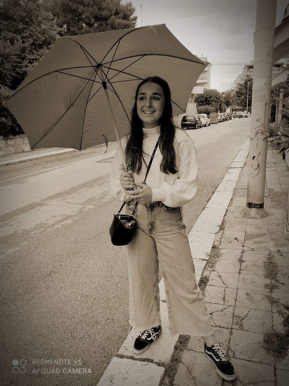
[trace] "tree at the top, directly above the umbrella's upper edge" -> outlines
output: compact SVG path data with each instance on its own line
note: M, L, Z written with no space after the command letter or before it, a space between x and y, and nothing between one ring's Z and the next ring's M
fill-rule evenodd
M57 17L61 36L73 36L133 28L137 16L132 2L121 0L43 0Z

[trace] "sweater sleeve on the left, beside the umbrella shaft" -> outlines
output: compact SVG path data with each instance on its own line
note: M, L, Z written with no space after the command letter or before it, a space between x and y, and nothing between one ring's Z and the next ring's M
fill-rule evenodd
M121 146L123 149L126 147L126 141L126 136L121 139ZM121 152L118 147L110 166L110 195L115 200L128 202L131 200L130 195L128 194L128 191L121 187L121 183L119 181L119 177L123 171L123 161L121 159Z

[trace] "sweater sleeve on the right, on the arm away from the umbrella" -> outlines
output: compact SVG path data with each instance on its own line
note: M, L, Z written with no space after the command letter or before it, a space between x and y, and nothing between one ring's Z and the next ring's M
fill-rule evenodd
M152 189L152 201L162 201L169 207L185 205L196 195L198 188L197 152L187 134L178 143L176 155L179 163L173 185L163 182L160 188Z

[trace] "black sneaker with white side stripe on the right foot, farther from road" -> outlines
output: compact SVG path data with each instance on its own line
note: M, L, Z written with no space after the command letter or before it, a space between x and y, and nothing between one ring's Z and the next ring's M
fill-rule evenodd
M204 344L205 355L216 366L217 373L227 381L236 379L234 366L227 358L223 347L220 343L215 343L211 347Z

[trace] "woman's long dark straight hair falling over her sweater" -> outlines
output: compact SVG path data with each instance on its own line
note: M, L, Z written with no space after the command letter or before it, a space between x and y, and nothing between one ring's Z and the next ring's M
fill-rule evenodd
M173 147L175 139L175 126L173 125L173 109L171 107L171 91L168 83L158 76L150 76L139 83L134 97L134 106L131 110L131 131L126 144L126 163L128 169L139 173L143 160L143 122L138 116L136 101L138 99L139 88L147 82L153 82L161 86L165 97L165 106L163 115L160 119L160 151L163 156L160 164L160 170L163 173L176 173L176 154Z

